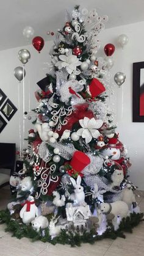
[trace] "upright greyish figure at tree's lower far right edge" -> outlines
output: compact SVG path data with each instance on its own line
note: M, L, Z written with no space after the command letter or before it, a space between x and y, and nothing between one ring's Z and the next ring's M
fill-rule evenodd
M122 201L127 203L129 210L132 208L132 203L137 205L134 192L132 191L132 186L130 184L126 185L126 188L123 189Z

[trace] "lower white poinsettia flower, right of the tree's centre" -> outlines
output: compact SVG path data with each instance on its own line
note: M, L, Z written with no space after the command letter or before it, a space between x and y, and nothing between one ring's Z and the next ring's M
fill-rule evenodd
M94 117L92 119L84 117L84 119L79 120L79 123L82 128L76 134L82 136L86 143L92 141L92 138L98 139L100 136L98 129L103 125L103 120L96 120Z

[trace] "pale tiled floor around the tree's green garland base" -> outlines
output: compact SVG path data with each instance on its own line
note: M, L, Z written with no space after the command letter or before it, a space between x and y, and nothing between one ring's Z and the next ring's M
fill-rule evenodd
M144 211L143 193L137 198L140 208ZM9 190L0 190L0 209L6 207L10 200ZM134 229L132 234L126 234L126 239L102 240L94 245L82 244L81 247L71 248L57 244L32 243L27 238L18 240L4 232L5 225L0 225L0 256L143 256L144 255L144 222Z

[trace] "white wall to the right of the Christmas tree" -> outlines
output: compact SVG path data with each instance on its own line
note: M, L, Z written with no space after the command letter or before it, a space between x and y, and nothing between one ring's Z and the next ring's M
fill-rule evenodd
M144 61L143 27L144 22L113 27L106 29L101 35L101 51L107 43L116 46L112 76L118 71L126 74L126 81L121 88L114 86L117 101L114 102L113 108L117 110L117 131L120 133L121 141L127 145L131 158L131 181L139 186L139 189L144 189L144 123L132 122L132 63ZM117 43L120 34L129 37L129 43L124 49Z

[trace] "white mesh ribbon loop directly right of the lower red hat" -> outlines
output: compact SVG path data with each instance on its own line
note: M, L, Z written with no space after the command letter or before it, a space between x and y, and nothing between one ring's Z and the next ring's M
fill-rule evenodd
M84 176L98 174L99 170L103 166L104 159L100 156L92 156L90 153L88 153L87 156L90 158L90 164L82 170L82 174L84 174Z

